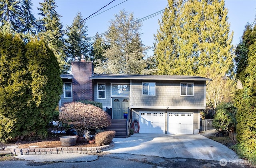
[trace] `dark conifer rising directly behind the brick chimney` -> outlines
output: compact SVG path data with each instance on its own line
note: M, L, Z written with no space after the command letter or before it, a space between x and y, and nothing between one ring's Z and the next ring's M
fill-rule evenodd
M87 26L85 25L85 21L82 20L84 20L82 14L78 12L71 27L66 27L69 29L66 33L66 45L68 47L66 53L70 59L70 65L74 57L81 58L81 55L84 55L87 61L92 57L91 43L89 42L88 37L86 37L88 35L86 34Z

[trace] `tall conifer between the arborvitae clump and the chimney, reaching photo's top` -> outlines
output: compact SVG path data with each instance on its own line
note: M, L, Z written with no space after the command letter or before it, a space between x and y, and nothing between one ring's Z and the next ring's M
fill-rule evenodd
M39 36L42 37L48 43L48 47L54 52L54 55L58 58L60 70L64 73L68 70L69 66L66 62L67 57L63 51L64 38L62 31L62 23L60 23L60 15L56 12L55 0L44 0L39 2L40 7L38 15L42 16L39 20L40 28Z

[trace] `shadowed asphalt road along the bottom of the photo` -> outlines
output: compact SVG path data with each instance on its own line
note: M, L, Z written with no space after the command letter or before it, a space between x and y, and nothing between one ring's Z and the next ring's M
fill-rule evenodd
M191 158L162 158L134 154L100 154L95 160L79 162L2 161L0 168L223 168L219 161ZM243 163L227 163L225 168L248 168Z

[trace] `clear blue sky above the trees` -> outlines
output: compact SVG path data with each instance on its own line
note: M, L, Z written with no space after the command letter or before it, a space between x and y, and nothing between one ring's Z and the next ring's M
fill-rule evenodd
M83 18L87 18L100 8L110 3L112 0L56 0L56 11L60 18L63 28L66 25L70 26L77 12L81 12ZM39 13L37 7L40 7L39 2L43 0L32 0L33 13L38 18ZM118 14L120 10L133 13L134 18L144 18L150 14L154 14L166 8L167 0L115 0L107 7L98 12L97 16L86 20L85 25L88 26L88 37L93 37L98 32L104 33L108 30L109 21L114 20L114 14ZM233 45L236 46L240 42L240 37L243 34L246 23L252 24L256 18L256 0L225 0L225 7L228 9L228 22L230 23L230 31L234 31ZM106 12L104 12L107 10ZM102 14L100 14L103 12ZM154 16L142 23L141 39L146 46L153 46L154 34L159 29L158 20L161 20L162 14ZM93 41L91 41L93 42ZM153 55L153 52L148 51L148 56Z

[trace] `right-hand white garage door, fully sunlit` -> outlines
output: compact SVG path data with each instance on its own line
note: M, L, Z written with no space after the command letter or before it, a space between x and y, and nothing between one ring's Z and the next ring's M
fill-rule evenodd
M193 113L169 112L168 113L168 134L193 134Z

